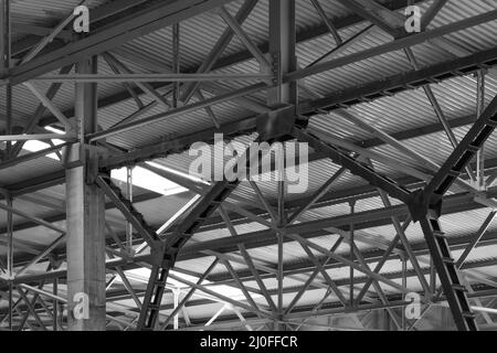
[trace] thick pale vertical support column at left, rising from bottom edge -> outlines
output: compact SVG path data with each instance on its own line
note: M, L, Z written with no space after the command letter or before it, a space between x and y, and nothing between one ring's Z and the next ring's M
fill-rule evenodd
M78 74L96 74L97 58L76 65ZM97 151L84 135L97 129L96 84L76 84L80 143L65 156L67 210L67 324L70 331L103 331L105 320L105 200L89 180Z

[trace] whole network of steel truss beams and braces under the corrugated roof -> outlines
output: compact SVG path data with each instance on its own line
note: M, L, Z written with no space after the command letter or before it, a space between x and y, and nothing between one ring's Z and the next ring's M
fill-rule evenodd
M231 2L230 0L168 1L152 6L146 2L145 0L125 0L119 1L119 4L104 4L99 9L93 10L92 17L98 20L108 18L110 22L98 28L95 33L71 43L64 43L68 40L64 28L72 19L70 15L54 29L42 31L41 40L38 39L31 43L21 41L10 47L7 44L10 41L10 26L8 15L6 15L9 13L9 1L1 1L2 33L0 38L2 41L0 47L2 57L7 57L2 62L1 79L2 84L7 86L7 126L0 136L0 141L6 142L0 170L43 158L52 152L59 153L64 169L76 168L81 163L86 170L86 184L98 185L112 201L106 208L119 210L127 224L130 225L130 229L136 232L133 236L125 235L126 239L123 239L123 234L116 234L113 231L110 220L106 222L107 232L112 234L112 239L107 242L105 249L108 257L107 272L112 275L112 279L106 286L108 290L107 306L123 313L123 318L106 314L107 325L117 325L121 330L222 329L233 325L246 330L262 328L298 330L304 325L318 327L322 324L313 321L311 317L347 315L355 322L355 327L334 325L332 322L328 322L326 327L361 330L367 328L367 323L371 319L368 315L372 317L384 311L388 315L388 324L391 323L396 330L410 330L414 329L419 321L408 327L400 311L409 304L403 300L403 295L410 291L406 288L410 277L417 278L422 285L421 295L423 304L426 306L425 311L446 302L458 330L477 330L480 327L476 323L478 313L483 315L487 325L494 324L488 315L489 312L494 312L491 311L494 301L486 301L486 299L491 299L497 295L495 289L487 290L487 287L497 288L497 284L493 278L474 271L474 268L482 264L468 264L466 258L477 245L497 242L495 234L486 233L494 220L495 212L488 215L477 234L467 235L461 239L461 243L454 243L456 240L445 237L440 217L442 214L457 213L462 210L495 207L493 197L497 195L497 192L490 186L497 175L495 171L497 162L485 160L482 149L497 126L497 98L494 98L485 108L482 97L485 89L485 71L497 65L497 47L468 53L446 40L445 35L495 21L497 19L496 11L431 29L432 20L447 2L444 0L433 1L422 18L422 32L408 35L403 28L404 18L398 12L404 6L403 1L391 1L389 4L381 6L372 0L340 0L353 14L345 19L331 19L325 11L324 0L309 0L321 24L309 31L295 33L295 1L290 0L286 3L274 0L269 6L269 38L266 43L261 44L256 43L242 26L257 6L257 0L245 1L235 14L231 14L225 7ZM413 1L413 3L421 2L423 1ZM180 55L182 21L207 11L219 15L226 24L226 29L200 66L184 69ZM118 15L115 17L116 14ZM342 29L357 25L364 20L368 25L362 31L349 40L343 40L340 33ZM127 53L119 47L126 42L166 26L173 28L171 69L158 67L156 63L148 62L136 53ZM363 35L368 35L374 28L383 30L393 40L377 47L324 61L325 57L336 55ZM324 34L330 38L331 51L316 58L311 65L299 68L295 55L296 45ZM240 40L246 51L221 57L234 36ZM453 54L455 58L420 67L411 47L426 41ZM315 94L304 83L305 78L313 75L399 50L405 52L412 66L411 71L327 96ZM81 57L93 55L102 55L114 75L102 75L96 72L71 74L73 65L78 65ZM133 72L124 64L123 58L130 58L138 66L149 67L155 73ZM214 73L215 69L230 67L248 58L255 60L260 72ZM12 65L10 61L14 64ZM59 71L59 74L50 74L53 71ZM477 119L467 117L447 120L431 85L470 74L476 74L478 77ZM38 81L51 83L46 93L42 93L36 87ZM251 84L226 90L219 84L221 81L236 81L237 84L250 81ZM253 83L254 81L256 83ZM123 85L124 92L103 98L98 104L94 101L95 106L98 105L103 108L116 101L133 99L137 110L112 127L82 133L81 127L75 124L73 118L77 116L77 111L74 109L62 111L54 104L54 98L62 83L94 85L101 82L119 83ZM13 128L12 86L21 84L40 104L29 121L19 130ZM422 88L425 92L438 124L417 130L388 135L379 128L368 126L360 117L356 117L347 110L347 108L361 103L415 88ZM166 93L163 93L165 89ZM309 99L298 101L298 92ZM253 95L258 93L266 93L268 97L266 103L253 98ZM204 94L209 94L209 97L205 98ZM151 103L145 105L142 96L150 98ZM235 103L252 114L234 122L220 124L213 107L228 101ZM160 107L161 113L144 118L156 107ZM131 151L105 142L107 138L123 132L197 110L203 110L210 117L213 125L211 129L187 136L165 137L160 141L154 141ZM373 138L362 141L360 145L350 143L337 139L332 135L322 135L307 128L309 118L316 114L331 111L341 115L361 130L372 135ZM474 122L475 120L476 122ZM467 125L473 125L473 127L462 141L457 141L453 128ZM46 131L41 128L46 126L63 129L64 135L45 133ZM453 153L443 165L437 165L401 142L403 139L434 131L443 131L454 147ZM253 206L242 207L234 201L248 204L247 200L233 193L240 185L240 181L224 179L205 185L145 163L181 153L198 141L212 142L213 135L216 132L223 132L228 138L256 132L257 142L292 139L307 142L314 150L310 162L329 159L340 169L328 175L329 180L315 194L309 195L306 200L294 202L287 201L285 197L285 182L277 183L278 197L276 202L267 200L257 183L250 182L257 202L255 204L250 202ZM52 143L54 137L64 140L64 143L54 146ZM52 146L39 152L20 156L24 143L29 140L49 141ZM98 151L98 158L88 158L75 163L63 160L62 152L75 143L82 143L85 149ZM398 168L404 165L370 150L372 147L381 145L389 145L416 162L415 167L405 168L409 178L392 180L376 171L376 163ZM241 157L246 163L255 158L248 151L250 149ZM476 156L478 159L475 167L470 162ZM137 211L136 204L157 199L158 195L148 194L133 197L131 201L131 192L125 195L109 178L110 170L134 165L142 165L187 188L197 196L161 227L149 224L145 221L145 216ZM277 168L272 165L271 171L275 172ZM328 191L346 172L360 176L371 186L358 188L351 193L343 191L341 192L342 196L334 199ZM486 175L485 173L493 174ZM485 179L486 176L488 179ZM2 277L4 286L0 290L9 293L9 310L3 312L0 323L8 321L10 330L65 329L62 306L68 304L71 298L67 298L68 292L64 293L59 289L59 279L67 277L67 272L60 269L61 261L65 259L62 254L57 255L56 248L66 239L67 229L54 225L55 222L65 220L64 212L49 220L41 220L17 210L13 205L17 199L23 200L24 197L25 201L49 205L60 212L56 203L35 200L31 193L63 183L65 180L64 172L55 172L38 180L3 185L4 188L0 190L2 199L6 201L0 203L0 207L8 214L7 227L2 229L7 236L1 239L2 244L7 245L8 252L6 261L3 259L0 261L0 268L7 275ZM427 182L427 185L424 186L423 182ZM457 184L464 192L447 196L446 193L453 184ZM131 185L128 188L133 190ZM357 200L372 196L379 196L384 208L368 212L355 211ZM396 199L402 204L393 206L389 197ZM318 221L308 221L306 217L306 212L309 210L345 202L350 205L351 214L349 215ZM64 211L63 207L62 211ZM13 216L23 217L27 222L14 224ZM178 218L181 221L177 222ZM412 222L421 223L426 244L409 242L405 231ZM236 226L246 223L260 224L265 229L239 234ZM393 240L363 234L363 231L371 226L385 224L394 226ZM44 248L33 248L32 245L15 239L13 236L14 232L28 229L34 225L47 227L56 232L59 237ZM231 237L201 243L192 239L198 232L224 227ZM159 231L157 231L158 228ZM338 236L336 243L330 247L322 247L313 240L315 237L328 234ZM129 248L126 248L124 244L133 243L131 240L135 244L144 240L136 248L136 254L126 253ZM307 261L299 264L284 261L285 244L289 242L299 244L307 256ZM360 243L373 246L378 250L361 253L358 247ZM338 247L343 244L350 249L347 256L337 254ZM277 248L277 264L251 254L251 249L268 245ZM14 248L23 249L31 256L14 261ZM150 248L150 254L142 254L146 248ZM463 256L457 260L451 254L451 250L455 248L464 250ZM430 260L424 258L425 255L430 255ZM204 256L211 256L214 260L203 274L192 274L188 269L182 269L179 264L181 260ZM402 272L382 272L388 260L399 258L403 261ZM46 274L29 275L30 269L35 265L43 264L46 259L49 259ZM412 270L406 269L408 261L412 264ZM433 263L436 274L429 269L430 261ZM371 263L378 264L371 268ZM234 264L243 265L246 269L236 270ZM220 265L223 266L225 272L212 275L213 269ZM150 278L137 278L126 272L127 269L136 266L149 268ZM350 278L338 280L328 272L329 269L342 267L350 269ZM172 274L171 269L184 275L194 275L198 277L198 281L188 281ZM431 276L430 282L425 278L426 275ZM434 286L435 275L441 280L441 288ZM125 292L110 292L117 278L123 281ZM184 292L184 289L171 287L168 278L182 282L189 290ZM295 280L298 286L285 287L285 278ZM468 285L467 278L474 279L480 286ZM276 279L276 288L268 288L268 279ZM394 279L401 279L402 285ZM53 281L51 282L51 280ZM212 290L210 286L204 285L207 280L239 289L243 295L243 300L233 300ZM146 290L134 288L134 281L146 282ZM251 281L255 282L254 287L248 285ZM487 287L482 288L483 285ZM388 295L382 286L393 288L401 295ZM299 306L306 292L319 290L325 292L319 302L311 307ZM168 291L171 291L175 298L171 306L165 304L162 300L163 295ZM294 297L289 306L285 308L283 296L288 293L293 293ZM113 303L114 297L116 301L118 298L133 299L139 314L118 303ZM476 306L470 304L470 300L475 300ZM483 308L482 300L488 308ZM195 302L199 304L216 303L219 310L207 322L195 322L189 318L187 310L187 303ZM168 315L165 315L166 310L170 310Z

